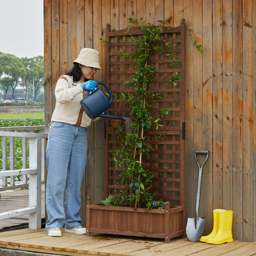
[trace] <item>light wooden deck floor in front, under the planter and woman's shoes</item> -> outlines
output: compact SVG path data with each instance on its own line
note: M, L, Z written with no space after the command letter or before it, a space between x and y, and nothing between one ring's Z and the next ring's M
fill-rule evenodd
M0 232L0 247L58 255L256 255L256 243L234 241L219 245L200 241L191 242L188 238L175 238L171 243L163 239L138 238L128 236L99 235L91 237L66 233L61 237L49 237L45 229L20 229Z

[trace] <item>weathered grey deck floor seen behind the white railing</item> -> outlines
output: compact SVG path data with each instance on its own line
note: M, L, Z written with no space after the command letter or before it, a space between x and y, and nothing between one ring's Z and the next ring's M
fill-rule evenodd
M22 209L28 207L28 190L6 190L1 191L1 199L0 199L0 213L13 211L16 209ZM42 219L45 216L45 193L44 193L44 185L42 186ZM28 227L28 214L9 218L5 220L0 220L0 232L8 229L19 229L21 227Z

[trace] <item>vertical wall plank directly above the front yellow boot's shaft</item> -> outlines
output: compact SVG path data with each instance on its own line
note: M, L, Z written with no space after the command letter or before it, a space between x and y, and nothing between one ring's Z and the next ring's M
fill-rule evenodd
M223 47L223 209L233 208L233 47L232 3L222 1L222 47Z

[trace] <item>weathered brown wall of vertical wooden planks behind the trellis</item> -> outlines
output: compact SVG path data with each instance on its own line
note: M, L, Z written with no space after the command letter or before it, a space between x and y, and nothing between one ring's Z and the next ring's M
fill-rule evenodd
M45 126L55 105L58 77L80 49L100 52L104 82L105 27L122 29L128 18L169 20L186 29L186 217L194 216L198 166L195 150L209 150L203 169L199 216L204 235L214 209L233 210L233 237L256 241L256 0L44 0ZM156 22L156 24L158 24ZM196 50L197 43L205 50ZM104 120L88 129L82 200L103 198ZM202 161L202 159L201 159ZM84 214L85 207L81 210ZM85 215L83 215L85 216ZM85 220L83 220L85 223Z

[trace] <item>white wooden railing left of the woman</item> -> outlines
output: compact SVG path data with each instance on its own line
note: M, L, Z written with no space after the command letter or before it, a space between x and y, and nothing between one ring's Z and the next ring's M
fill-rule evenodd
M27 126L26 126L27 127ZM36 127L36 126L35 126ZM7 128L7 127L5 127ZM20 128L20 127L12 127ZM2 129L2 127L1 127ZM40 129L40 128L39 128ZM22 129L17 129L20 131ZM29 129L24 129L29 130ZM35 129L37 130L37 129ZM3 186L0 191L29 186L29 207L9 212L0 213L0 220L29 214L29 228L41 228L41 174L44 172L44 140L48 134L23 133L0 131L2 137L2 166L0 177L3 177ZM10 140L10 169L7 170L7 137ZM23 140L23 168L15 170L15 138ZM29 168L27 168L27 139L29 139ZM24 156L25 155L25 156ZM15 176L22 175L26 182L15 185ZM29 175L29 182L27 175ZM7 177L10 177L10 184L7 184Z

